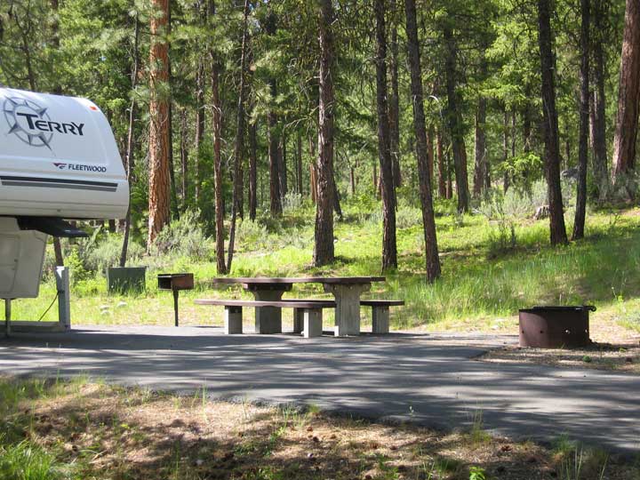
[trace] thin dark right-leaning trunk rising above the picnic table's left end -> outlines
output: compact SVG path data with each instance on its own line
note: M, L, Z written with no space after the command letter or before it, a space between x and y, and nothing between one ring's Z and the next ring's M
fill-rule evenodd
M240 92L238 92L238 103L236 109L236 144L234 146L234 189L233 201L231 208L231 228L229 229L229 244L227 256L227 271L231 271L231 263L233 261L234 246L236 243L236 221L241 210L241 202L243 197L243 180L242 180L242 156L244 155L244 96L246 94L246 56L249 43L248 36L248 18L249 18L249 0L244 0L244 20L243 20L243 40L242 51L240 53Z

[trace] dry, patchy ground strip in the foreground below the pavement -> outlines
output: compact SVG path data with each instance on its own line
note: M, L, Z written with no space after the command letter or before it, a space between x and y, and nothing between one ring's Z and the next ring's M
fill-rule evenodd
M633 459L561 436L546 447L248 402L0 377L0 478L631 480ZM162 420L158 421L159 415Z

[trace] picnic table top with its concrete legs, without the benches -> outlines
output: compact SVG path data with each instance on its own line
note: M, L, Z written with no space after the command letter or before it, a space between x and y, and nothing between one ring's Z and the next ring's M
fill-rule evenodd
M244 290L252 292L255 300L282 300L284 292L292 290L293 284L323 284L324 292L332 293L336 301L335 336L360 334L360 295L371 289L372 282L384 282L384 276L292 276L292 277L216 277L213 284L242 284ZM257 333L282 331L282 308L256 307L255 328Z

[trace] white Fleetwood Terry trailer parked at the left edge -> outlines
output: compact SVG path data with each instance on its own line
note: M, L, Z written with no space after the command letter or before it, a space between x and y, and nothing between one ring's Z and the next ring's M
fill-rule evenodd
M0 88L0 299L36 297L47 234L62 219L119 219L129 184L92 101Z

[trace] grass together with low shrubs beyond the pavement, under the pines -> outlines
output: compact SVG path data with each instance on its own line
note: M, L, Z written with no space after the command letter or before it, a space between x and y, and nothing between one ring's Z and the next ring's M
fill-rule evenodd
M600 313L640 331L635 313L640 293L640 210L606 209L589 212L584 240L548 246L547 220L532 215L543 198L543 186L528 194L516 189L494 194L460 215L455 205L436 202L436 225L443 277L435 284L424 280L424 239L421 214L410 196L401 196L398 217L399 268L386 274L385 283L373 284L367 295L406 301L392 312L396 329L429 330L513 327L518 308L539 304L596 304ZM571 198L572 185L566 196ZM571 200L569 205L571 205ZM380 274L380 211L373 196L349 197L344 218L338 221L335 248L338 261L328 268L313 268L313 205L292 197L281 220L265 212L255 221L240 223L231 276ZM571 206L567 220L572 218ZM75 324L170 324L172 296L158 292L156 274L193 272L196 290L181 295L180 317L185 324L220 324L222 312L196 307L193 299L205 296L247 297L240 287L213 289L217 276L215 242L197 221L196 212L183 214L164 230L146 254L132 244L130 266L146 266L147 291L109 295L105 268L116 266L122 236L96 228L92 238L63 244L72 272L72 318ZM51 271L52 250L39 299L16 300L14 318L37 319L55 297ZM296 286L295 296L320 297L319 285ZM221 310L221 309L220 309ZM56 319L55 309L44 319ZM291 315L290 312L285 312ZM366 319L364 319L366 321Z

